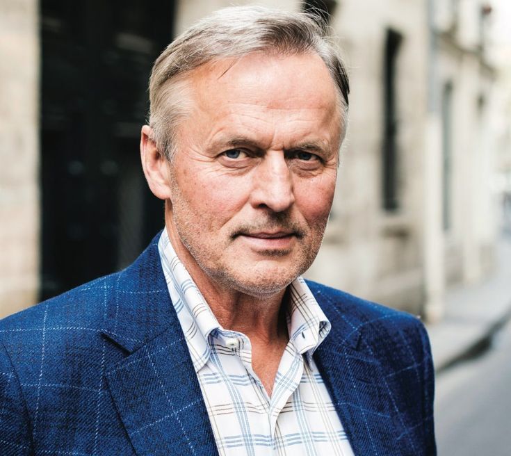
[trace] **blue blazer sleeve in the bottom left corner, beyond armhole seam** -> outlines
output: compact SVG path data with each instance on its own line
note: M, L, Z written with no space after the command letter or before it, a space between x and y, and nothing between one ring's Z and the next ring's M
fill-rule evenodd
M31 426L18 377L0 341L0 455L33 455Z

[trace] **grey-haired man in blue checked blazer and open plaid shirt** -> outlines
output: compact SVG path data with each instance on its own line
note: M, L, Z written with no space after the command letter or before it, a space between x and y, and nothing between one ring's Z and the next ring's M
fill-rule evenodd
M305 282L348 79L314 19L227 8L156 60L142 129L165 229L3 320L6 455L434 455L421 323Z

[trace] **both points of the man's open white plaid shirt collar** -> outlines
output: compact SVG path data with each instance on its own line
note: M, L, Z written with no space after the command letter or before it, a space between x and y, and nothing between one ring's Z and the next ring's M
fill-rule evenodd
M166 229L161 233L158 250L170 299L183 329L195 372L198 372L211 356L209 334L215 330L223 331L223 328L177 257ZM330 332L331 325L302 277L289 285L288 309L289 339L310 362L314 350Z

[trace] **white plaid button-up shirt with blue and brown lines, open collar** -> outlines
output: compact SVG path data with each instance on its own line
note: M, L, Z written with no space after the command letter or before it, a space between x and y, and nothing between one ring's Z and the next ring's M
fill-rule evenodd
M312 354L330 322L307 284L290 285L289 343L268 397L252 370L245 334L223 329L169 241L159 241L172 304L206 403L220 455L352 456Z

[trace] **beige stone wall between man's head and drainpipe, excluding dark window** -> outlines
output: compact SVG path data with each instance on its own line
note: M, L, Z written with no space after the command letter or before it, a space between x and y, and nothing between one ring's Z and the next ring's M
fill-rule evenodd
M428 102L425 6L422 1L346 0L339 2L332 27L350 69L350 123L332 220L308 275L419 313ZM382 205L384 46L389 29L401 36L396 58L395 211Z

